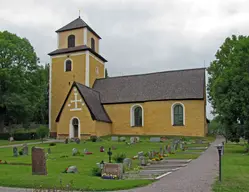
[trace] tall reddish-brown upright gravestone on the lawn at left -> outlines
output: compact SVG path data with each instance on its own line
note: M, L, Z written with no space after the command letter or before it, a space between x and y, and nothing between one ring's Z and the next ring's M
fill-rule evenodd
M32 175L47 175L45 152L42 148L32 147Z

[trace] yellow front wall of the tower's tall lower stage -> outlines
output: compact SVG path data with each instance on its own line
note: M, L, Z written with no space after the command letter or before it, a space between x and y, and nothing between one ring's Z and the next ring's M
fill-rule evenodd
M64 71L64 62L67 58L67 55L52 58L51 132L56 132L57 130L55 119L72 86L73 81L85 84L85 54L71 54L69 56L69 58L73 61L72 71L70 72Z

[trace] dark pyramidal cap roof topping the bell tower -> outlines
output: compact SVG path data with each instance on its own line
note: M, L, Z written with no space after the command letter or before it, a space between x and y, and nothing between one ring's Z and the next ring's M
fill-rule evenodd
M101 37L89 25L87 25L87 23L83 21L80 17L68 23L64 27L58 29L56 32L58 33L58 32L63 32L63 31L70 31L73 29L80 29L84 27L86 27L89 31L91 31L94 35L96 35L99 39L101 39Z

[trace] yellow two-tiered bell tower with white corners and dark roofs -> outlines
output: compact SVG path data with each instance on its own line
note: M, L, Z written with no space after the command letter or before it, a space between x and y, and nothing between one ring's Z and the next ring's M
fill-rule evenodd
M51 57L49 81L49 128L57 136L56 116L74 81L92 87L105 76L107 60L99 54L101 37L80 17L58 29L57 49Z

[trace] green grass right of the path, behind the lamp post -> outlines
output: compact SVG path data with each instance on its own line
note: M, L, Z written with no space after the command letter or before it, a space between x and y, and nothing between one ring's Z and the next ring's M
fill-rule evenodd
M244 147L236 144L225 145L222 157L222 183L217 181L215 192L249 191L249 155L244 155Z

